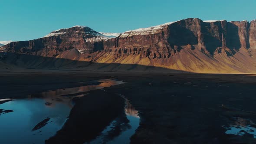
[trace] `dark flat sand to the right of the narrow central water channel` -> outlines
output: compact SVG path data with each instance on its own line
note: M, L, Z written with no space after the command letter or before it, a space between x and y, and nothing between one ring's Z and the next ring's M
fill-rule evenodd
M229 118L256 121L254 77L148 76L105 88L125 95L139 111L134 144L254 144L253 135L225 134ZM243 77L241 75L241 77ZM131 78L129 78L132 81ZM250 81L253 82L253 81Z

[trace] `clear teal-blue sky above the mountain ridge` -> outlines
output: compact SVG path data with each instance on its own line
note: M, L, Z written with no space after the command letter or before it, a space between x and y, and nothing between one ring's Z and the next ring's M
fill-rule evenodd
M120 33L185 18L251 21L256 0L0 0L0 41L75 25Z

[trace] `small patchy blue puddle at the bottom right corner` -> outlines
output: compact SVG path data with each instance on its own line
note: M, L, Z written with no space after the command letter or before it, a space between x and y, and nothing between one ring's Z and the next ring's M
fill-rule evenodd
M249 119L233 117L232 123L226 128L226 134L244 135L253 134L256 138L256 124Z

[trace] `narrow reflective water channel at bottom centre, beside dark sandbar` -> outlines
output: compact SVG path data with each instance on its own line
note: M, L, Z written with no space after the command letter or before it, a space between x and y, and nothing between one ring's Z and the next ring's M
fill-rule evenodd
M123 95L120 96L125 98ZM140 117L138 116L138 111L136 111L128 99L125 98L125 115L121 115L112 121L112 123L102 131L102 134L89 144L129 144L130 137L135 134L139 122Z

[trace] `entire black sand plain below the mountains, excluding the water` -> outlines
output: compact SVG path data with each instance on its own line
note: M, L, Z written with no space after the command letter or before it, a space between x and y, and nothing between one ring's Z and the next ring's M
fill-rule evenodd
M125 84L89 92L75 99L69 121L46 143L84 143L121 113L128 98L139 111L140 126L132 144L255 144L251 134L225 134L233 117L256 121L256 76L236 74L166 74L131 72L1 73L0 97L26 96L57 88L88 85L92 79L118 79ZM106 99L108 97L108 99ZM89 105L89 101L97 105ZM104 101L104 102L103 102ZM106 109L108 108L108 109ZM88 111L89 110L89 111ZM112 115L104 115L110 112ZM93 117L83 116L87 114ZM100 121L105 120L99 124ZM75 131L70 123L75 124ZM74 126L74 125L73 125ZM88 136L79 132L89 132ZM70 131L72 130L72 131ZM63 140L65 137L69 141Z

